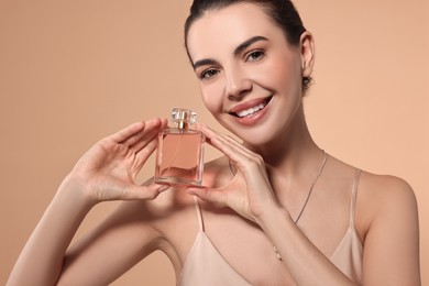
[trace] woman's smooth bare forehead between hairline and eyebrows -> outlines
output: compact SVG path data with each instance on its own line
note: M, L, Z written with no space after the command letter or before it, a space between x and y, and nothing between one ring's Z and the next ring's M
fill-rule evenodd
M252 36L283 36L283 31L261 6L238 3L206 12L189 29L187 45L193 59L234 50Z

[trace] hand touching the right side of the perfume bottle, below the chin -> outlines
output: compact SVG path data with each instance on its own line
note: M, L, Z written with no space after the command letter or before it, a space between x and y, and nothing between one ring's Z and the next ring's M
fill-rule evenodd
M235 167L233 179L224 187L189 187L188 193L202 200L228 206L242 217L257 222L264 210L278 207L264 160L234 139L200 125L207 142L222 152Z

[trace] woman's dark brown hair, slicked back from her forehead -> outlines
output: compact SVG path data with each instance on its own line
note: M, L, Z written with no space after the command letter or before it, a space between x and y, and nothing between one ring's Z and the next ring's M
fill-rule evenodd
M254 3L263 8L265 13L276 23L285 33L286 40L292 45L298 45L300 36L307 30L302 24L294 3L290 0L194 0L190 7L189 16L185 22L185 47L188 52L187 37L189 29L195 21L200 19L205 12L227 8L235 3ZM190 58L189 52L188 56ZM309 88L311 77L302 77L302 92Z

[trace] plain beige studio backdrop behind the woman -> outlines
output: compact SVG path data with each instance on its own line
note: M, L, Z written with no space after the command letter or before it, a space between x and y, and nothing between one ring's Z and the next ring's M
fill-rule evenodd
M62 177L95 141L130 122L167 117L176 106L196 109L218 129L183 47L189 3L0 0L0 284ZM428 3L297 1L317 41L316 85L306 99L310 130L329 153L411 184L426 283ZM114 205L98 206L78 235ZM164 255L151 255L114 285L145 283L174 285Z

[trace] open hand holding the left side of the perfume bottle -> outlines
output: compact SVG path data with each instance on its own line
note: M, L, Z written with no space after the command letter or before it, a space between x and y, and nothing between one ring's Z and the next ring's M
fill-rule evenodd
M154 199L168 186L135 178L157 145L157 133L167 120L136 122L100 140L77 162L62 187L78 191L96 205L106 200Z

